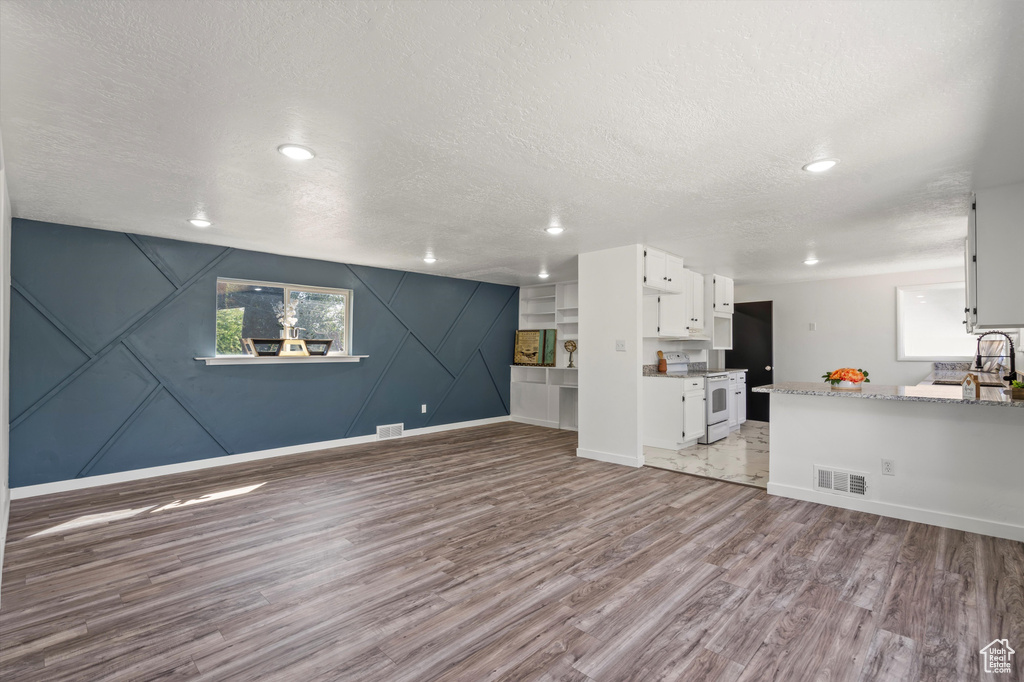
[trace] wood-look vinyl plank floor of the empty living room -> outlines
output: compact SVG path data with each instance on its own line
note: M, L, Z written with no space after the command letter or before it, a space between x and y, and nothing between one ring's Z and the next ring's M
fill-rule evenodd
M983 680L1024 546L499 424L12 503L0 679ZM995 679L995 678L991 678Z

